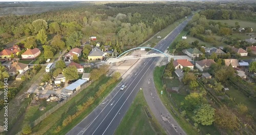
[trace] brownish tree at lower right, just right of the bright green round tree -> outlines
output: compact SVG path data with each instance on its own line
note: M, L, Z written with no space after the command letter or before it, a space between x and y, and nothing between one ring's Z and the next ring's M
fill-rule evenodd
M234 115L226 106L216 109L215 124L220 128L228 130L238 129L237 116Z

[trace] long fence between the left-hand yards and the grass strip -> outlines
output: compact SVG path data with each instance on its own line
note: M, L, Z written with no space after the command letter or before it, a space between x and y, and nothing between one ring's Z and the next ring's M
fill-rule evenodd
M62 101L61 103L55 105L53 108L51 108L50 110L48 110L44 115L41 115L38 119L36 119L34 122L32 122L30 124L31 128L36 126L38 123L40 123L42 120L44 120L45 118L47 118L49 115L51 115L52 113L54 113L59 107L61 107L62 105L66 104L69 100L71 100L73 97L75 97L77 94L79 94L83 89L85 89L87 86L89 86L93 81L89 81L88 83L86 83L85 85L81 86L80 89L78 89L75 93L73 93L71 96L69 96L67 99L65 99L64 101ZM19 131L17 133L22 134L22 131Z

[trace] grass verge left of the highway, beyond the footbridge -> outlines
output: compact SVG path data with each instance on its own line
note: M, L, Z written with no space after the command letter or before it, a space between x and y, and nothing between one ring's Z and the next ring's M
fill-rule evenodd
M154 38L151 40L148 40L144 45L146 46L147 44L155 44L158 43L161 39L166 37L170 32L172 32L178 25L180 25L180 22L184 21L186 18L179 19L175 21L172 25L167 26L165 29L161 30L159 34L157 34ZM161 36L161 39L157 39L157 36Z

